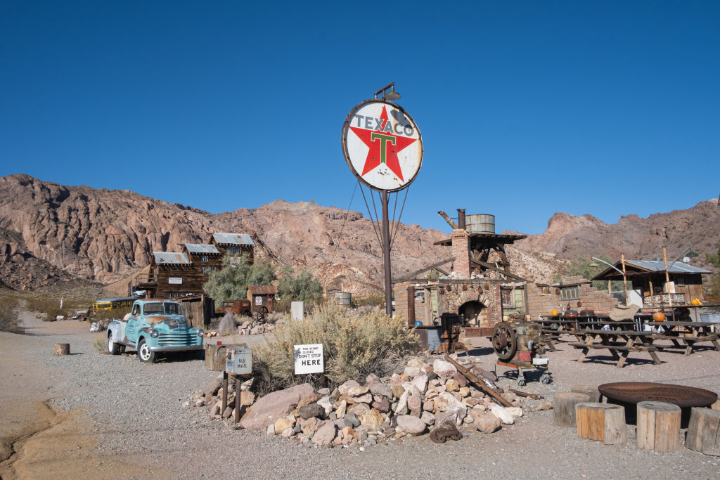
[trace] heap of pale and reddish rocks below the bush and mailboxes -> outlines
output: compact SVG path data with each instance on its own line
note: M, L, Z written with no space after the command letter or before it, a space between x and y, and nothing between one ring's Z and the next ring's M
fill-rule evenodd
M240 391L243 409L240 427L330 447L368 447L422 435L438 427L449 429L444 435L434 435L440 441L460 435L458 429L465 433L492 433L502 425L512 425L523 415L523 409L527 412L552 407L550 402L537 402L510 392L502 397L513 406L502 407L475 389L451 363L441 359L426 363L413 358L402 374L382 379L369 375L364 385L351 380L333 391L315 391L310 384L302 384L256 400L247 390L251 383L252 380L246 381ZM221 412L218 389L220 379L197 392L185 402L186 407L207 407L210 416L217 420L232 419L235 392L230 390L228 407ZM438 441L435 438L431 435L433 441Z

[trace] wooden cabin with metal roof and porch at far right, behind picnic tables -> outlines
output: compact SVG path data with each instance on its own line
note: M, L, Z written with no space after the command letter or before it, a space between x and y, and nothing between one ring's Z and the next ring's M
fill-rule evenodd
M622 262L615 263L622 271ZM689 305L693 299L703 300L703 275L711 272L687 263L675 262L667 269L665 278L665 262L662 260L626 260L625 271L632 288L642 296L643 307L660 307L669 304L672 298L674 305ZM608 267L598 273L593 280L623 280L621 272ZM630 286L628 287L630 289Z

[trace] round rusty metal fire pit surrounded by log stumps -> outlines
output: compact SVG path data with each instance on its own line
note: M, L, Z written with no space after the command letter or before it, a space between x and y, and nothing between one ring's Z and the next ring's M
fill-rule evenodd
M687 426L692 407L708 407L718 399L716 393L694 386L656 384L649 381L619 381L602 384L598 390L608 403L625 407L625 421L636 423L638 402L666 402L682 410L680 425Z

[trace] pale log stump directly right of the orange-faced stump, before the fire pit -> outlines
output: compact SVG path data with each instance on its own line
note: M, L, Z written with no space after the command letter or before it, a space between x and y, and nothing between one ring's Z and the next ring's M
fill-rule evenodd
M665 402L637 404L637 446L654 452L680 448L680 407Z

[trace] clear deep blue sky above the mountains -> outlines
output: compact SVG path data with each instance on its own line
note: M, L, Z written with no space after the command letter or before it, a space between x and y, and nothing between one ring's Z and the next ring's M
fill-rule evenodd
M405 223L720 191L716 1L4 1L0 65L0 175L215 213L347 208L343 120L390 81L425 145Z

